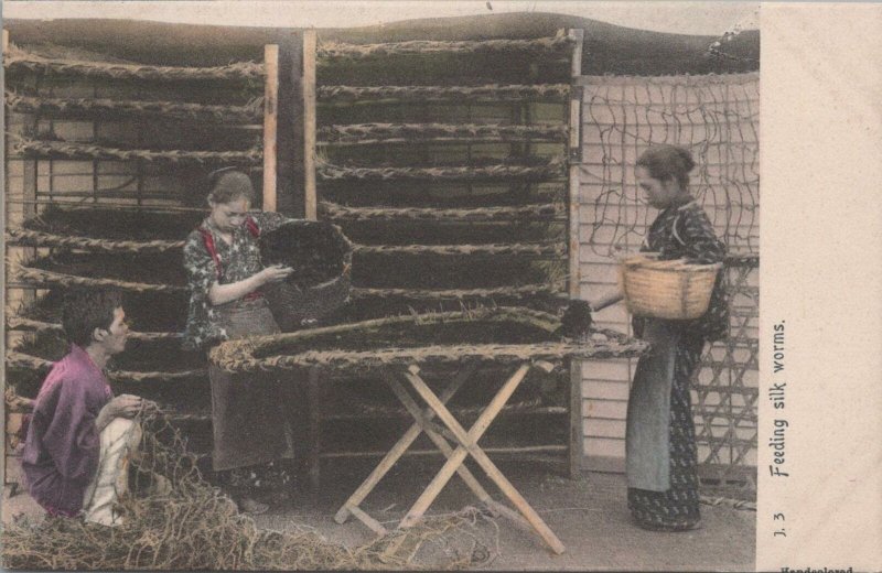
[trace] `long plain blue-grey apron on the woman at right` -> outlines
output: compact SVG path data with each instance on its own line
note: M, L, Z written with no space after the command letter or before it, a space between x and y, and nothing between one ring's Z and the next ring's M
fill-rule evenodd
M679 328L647 318L643 338L652 347L637 361L627 401L627 485L650 491L670 488L670 391Z

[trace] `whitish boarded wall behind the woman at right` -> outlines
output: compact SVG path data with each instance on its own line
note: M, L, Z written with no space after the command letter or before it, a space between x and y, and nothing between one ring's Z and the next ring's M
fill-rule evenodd
M579 193L580 293L596 298L613 289L617 257L639 249L656 215L638 197L633 169L637 156L656 143L691 149L698 166L691 186L730 252L759 252L759 74L667 78L582 77L582 165ZM736 273L730 271L730 273ZM734 275L734 274L730 274ZM733 327L752 339L727 357L716 345L710 357L734 360L734 368L706 367L702 391L693 391L699 460L728 464L740 457L716 436L755 442L755 296L757 272L733 298ZM596 325L630 332L622 304L595 315ZM743 363L751 363L746 366ZM621 469L625 454L625 412L633 360L582 365L584 447L590 468ZM707 388L712 385L717 390ZM701 412L713 412L701 415ZM735 420L753 414L752 420ZM750 415L749 415L750 418ZM706 436L702 440L702 435ZM711 445L716 446L713 455ZM742 444L743 446L743 444ZM743 450L743 447L742 447ZM755 464L755 445L740 463Z

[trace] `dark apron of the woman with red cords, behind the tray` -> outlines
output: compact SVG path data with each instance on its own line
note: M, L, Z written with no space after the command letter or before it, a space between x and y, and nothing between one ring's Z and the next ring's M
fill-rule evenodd
M220 325L230 338L276 334L279 326L262 298L239 299L217 306ZM284 388L267 374L232 375L208 365L215 471L292 457Z

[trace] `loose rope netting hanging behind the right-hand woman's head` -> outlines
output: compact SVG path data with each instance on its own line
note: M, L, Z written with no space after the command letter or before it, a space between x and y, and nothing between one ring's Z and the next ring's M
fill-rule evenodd
M688 148L690 187L730 251L759 250L759 74L587 77L581 180L598 255L636 250L652 224L634 179L643 151ZM585 187L588 192L585 193Z

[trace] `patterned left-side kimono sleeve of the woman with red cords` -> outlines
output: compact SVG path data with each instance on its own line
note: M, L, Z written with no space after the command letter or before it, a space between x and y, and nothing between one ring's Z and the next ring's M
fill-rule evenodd
M184 348L195 350L226 337L217 325L216 311L208 301L208 290L217 281L217 266L198 231L191 233L184 244L184 270L190 304L183 345Z

